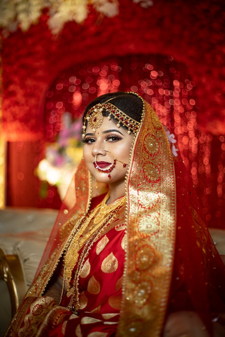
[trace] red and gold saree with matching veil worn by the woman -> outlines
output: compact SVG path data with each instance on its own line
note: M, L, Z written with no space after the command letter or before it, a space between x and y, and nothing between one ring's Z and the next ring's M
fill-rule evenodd
M81 162L77 203L62 207L48 260L6 336L161 336L168 314L181 310L197 312L211 332L224 312L224 266L183 163L144 104L124 203L103 217L90 211L93 188ZM43 295L62 258L69 284L58 305Z

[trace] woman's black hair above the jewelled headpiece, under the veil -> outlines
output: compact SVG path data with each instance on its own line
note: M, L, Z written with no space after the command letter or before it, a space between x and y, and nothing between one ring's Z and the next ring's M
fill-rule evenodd
M104 103L108 99L110 99L110 103L115 105L118 109L120 109L124 114L130 116L132 119L134 119L137 122L141 121L141 116L143 112L143 101L141 100L140 97L138 97L135 94L132 93L126 93L122 91L117 91L117 92L111 92L99 97L96 97L93 101L91 101L84 112L83 115L83 121L84 117L86 116L88 110L92 108L92 106L96 105L97 103ZM103 111L103 116L108 116L109 112L104 110ZM112 121L117 124L118 121L115 118L112 118ZM121 127L124 127L121 125ZM126 129L126 127L124 127Z

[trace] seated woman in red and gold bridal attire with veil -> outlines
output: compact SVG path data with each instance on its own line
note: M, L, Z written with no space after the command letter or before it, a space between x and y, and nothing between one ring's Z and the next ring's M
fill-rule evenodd
M83 121L77 202L6 336L212 335L224 266L173 135L134 93L96 98Z

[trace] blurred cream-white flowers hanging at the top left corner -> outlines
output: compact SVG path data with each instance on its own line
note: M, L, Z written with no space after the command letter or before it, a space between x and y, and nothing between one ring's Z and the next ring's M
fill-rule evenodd
M3 33L14 32L18 26L27 31L37 24L44 9L48 9L47 22L53 34L57 34L66 22L84 22L92 6L106 17L119 13L117 0L2 0L0 2L0 27Z

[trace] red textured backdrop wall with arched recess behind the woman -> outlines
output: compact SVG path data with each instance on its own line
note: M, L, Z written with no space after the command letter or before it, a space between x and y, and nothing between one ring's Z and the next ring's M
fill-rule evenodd
M81 82L62 83L67 95L68 87L74 86L72 96L82 96L79 107L72 108L73 114L81 114L86 102L104 90L138 91L174 129L209 225L224 227L224 17L222 1L158 0L144 9L123 0L114 18L100 18L92 10L82 25L68 23L53 36L44 13L28 32L17 30L3 39L2 124L9 141L7 204L58 206L53 188L47 190L47 198L40 198L40 182L33 176L33 168L44 156L46 138L55 135L54 123L49 123L52 107L49 109L51 97L47 93L53 83L60 84L58 75L75 65L70 77ZM117 76L112 74L115 79L109 79L102 65L110 63L112 68L113 62L121 70L111 69ZM94 67L100 68L96 74ZM88 77L94 85L86 81ZM98 78L103 82L97 84ZM54 90L58 98L59 88ZM67 110L64 102L68 98L57 100L63 101ZM48 130L50 124L52 129Z

